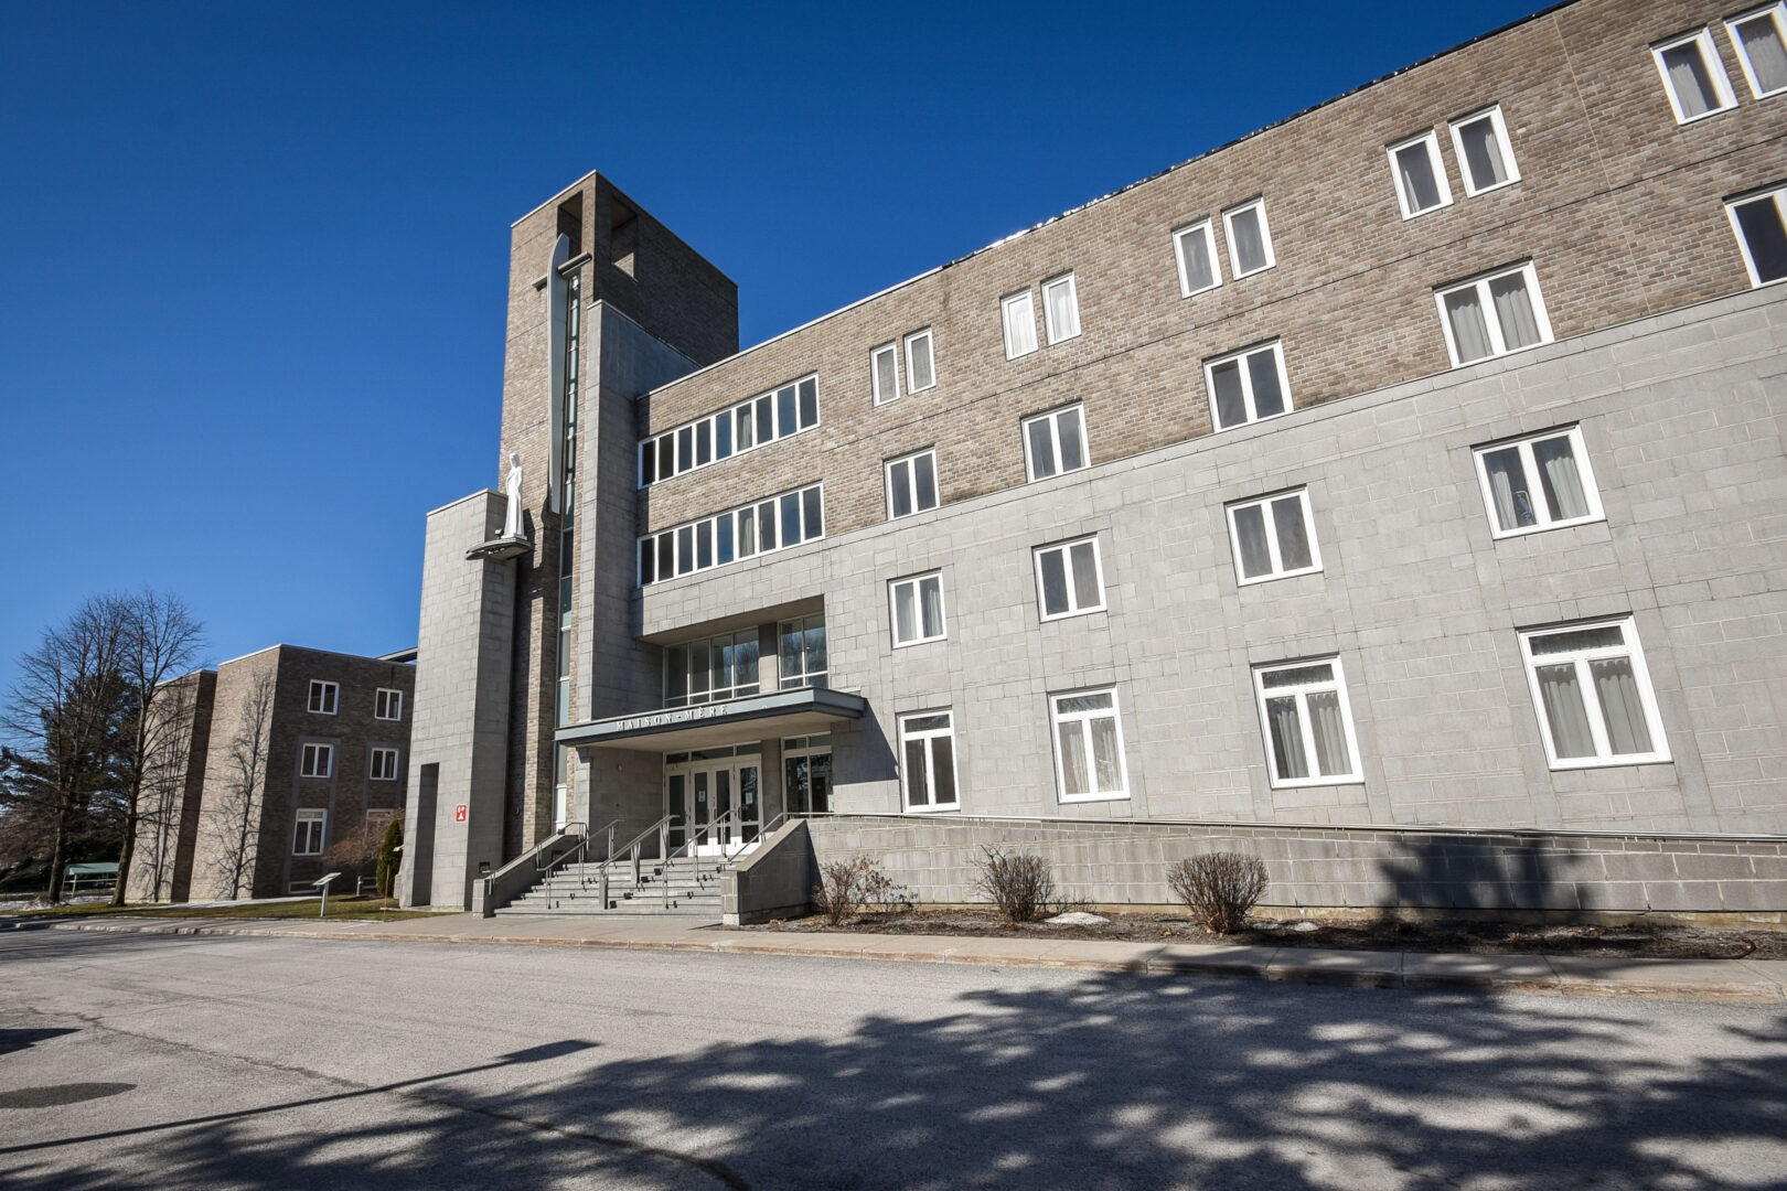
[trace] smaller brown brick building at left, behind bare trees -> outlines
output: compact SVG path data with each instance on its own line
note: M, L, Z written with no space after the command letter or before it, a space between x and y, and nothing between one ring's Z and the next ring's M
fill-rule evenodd
M275 645L179 679L130 900L311 893L323 852L402 814L413 654Z

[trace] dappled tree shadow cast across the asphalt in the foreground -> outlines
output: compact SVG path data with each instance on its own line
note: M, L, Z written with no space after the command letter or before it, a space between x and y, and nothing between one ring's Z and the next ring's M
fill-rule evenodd
M500 1091L393 1087L347 1127L273 1105L0 1145L0 1171L16 1191L150 1168L254 1189L1780 1186L1787 1018L1682 1005L1671 1039L1657 1021L1621 1002L1097 975L843 1037L790 1023L515 1068Z

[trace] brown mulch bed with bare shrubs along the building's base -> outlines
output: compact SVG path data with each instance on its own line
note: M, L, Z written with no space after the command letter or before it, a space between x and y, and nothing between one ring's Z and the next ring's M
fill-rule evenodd
M1673 923L1619 927L1523 925L1499 921L1324 921L1296 930L1292 921L1254 920L1238 934L1212 934L1183 916L1162 912L1101 914L1099 925L1024 923L1010 927L992 911L913 909L860 914L842 927L822 918L772 921L740 930L851 934L952 934L992 939L1094 939L1117 943L1228 943L1237 946L1326 946L1362 952L1472 952L1481 955L1612 955L1632 959L1787 959L1787 932Z

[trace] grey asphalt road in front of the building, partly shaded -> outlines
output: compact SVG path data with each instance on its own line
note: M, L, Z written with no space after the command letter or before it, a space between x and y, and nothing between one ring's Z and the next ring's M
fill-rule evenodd
M0 934L0 1187L1787 1187L1787 1012Z

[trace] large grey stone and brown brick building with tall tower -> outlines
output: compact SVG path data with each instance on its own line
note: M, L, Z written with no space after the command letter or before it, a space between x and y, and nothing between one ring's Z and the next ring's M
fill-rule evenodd
M759 845L742 916L979 843L1787 911L1783 137L1782 4L1578 0L745 352L586 177L513 229L531 543L429 514L406 900L618 820Z

